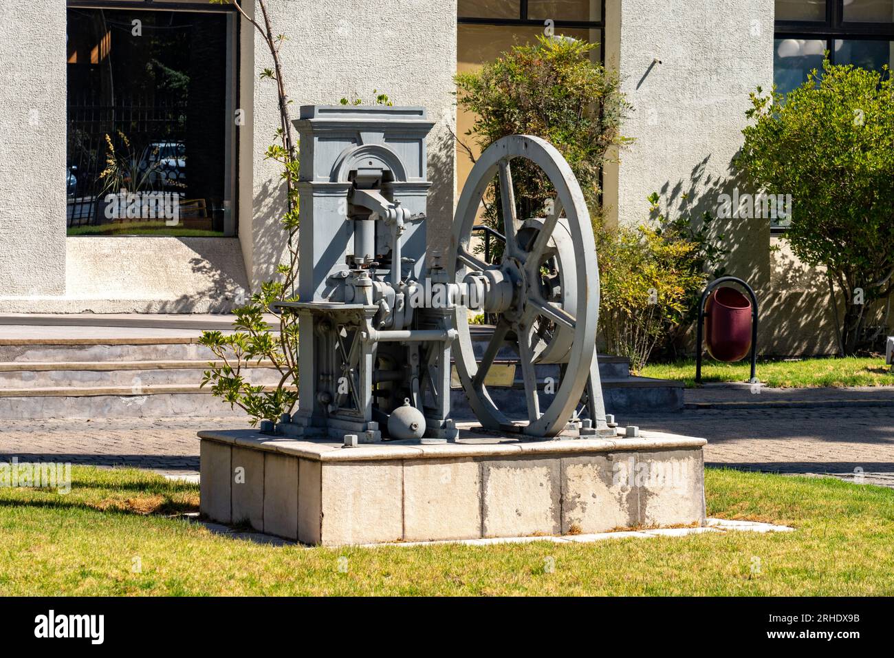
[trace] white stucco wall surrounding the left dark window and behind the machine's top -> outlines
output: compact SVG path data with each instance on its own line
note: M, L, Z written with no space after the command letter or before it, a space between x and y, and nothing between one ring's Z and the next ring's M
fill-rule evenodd
M253 5L254 3L249 3ZM268 2L293 113L308 103L368 100L422 105L434 183L428 230L447 244L454 196L452 76L456 2ZM279 124L266 45L242 21L238 133L239 240L66 238L64 0L0 0L0 312L225 311L274 277L285 236L279 169L264 158ZM127 254L126 261L116 256ZM234 258L235 257L235 258ZM116 264L117 263L117 264Z

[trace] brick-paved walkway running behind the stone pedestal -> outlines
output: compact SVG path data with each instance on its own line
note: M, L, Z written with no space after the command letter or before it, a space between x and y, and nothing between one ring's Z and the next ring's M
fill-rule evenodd
M746 406L754 400L797 405L830 400L845 406ZM760 398L759 400L755 398ZM854 406L865 399L890 405ZM687 391L687 402L736 402L675 414L624 414L622 425L704 437L705 462L779 473L839 474L857 482L894 485L894 389L764 389ZM166 474L198 473L200 429L239 429L239 419L160 418L6 421L0 458L65 460L96 466L138 466ZM861 470L862 469L862 470Z

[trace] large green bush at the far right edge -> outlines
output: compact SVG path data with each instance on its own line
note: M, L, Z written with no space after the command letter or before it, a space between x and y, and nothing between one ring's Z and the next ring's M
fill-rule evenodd
M890 71L827 60L788 95L758 88L751 100L737 164L763 192L792 195L784 239L798 259L826 269L833 295L838 287L840 351L855 354L867 317L894 293Z

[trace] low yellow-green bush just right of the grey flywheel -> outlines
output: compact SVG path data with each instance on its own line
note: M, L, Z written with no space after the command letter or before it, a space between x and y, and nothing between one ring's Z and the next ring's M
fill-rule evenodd
M599 327L609 353L640 372L704 288L696 242L677 226L601 228Z

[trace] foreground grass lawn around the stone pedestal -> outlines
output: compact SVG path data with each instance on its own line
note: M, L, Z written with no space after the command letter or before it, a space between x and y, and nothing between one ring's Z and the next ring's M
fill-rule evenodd
M894 491L827 478L706 472L710 516L795 533L332 550L212 534L177 516L198 502L187 483L72 480L65 495L0 489L0 595L894 594Z

